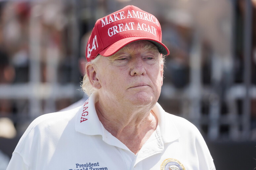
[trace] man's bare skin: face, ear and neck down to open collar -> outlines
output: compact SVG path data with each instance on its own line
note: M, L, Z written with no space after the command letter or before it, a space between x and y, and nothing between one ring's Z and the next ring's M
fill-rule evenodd
M136 154L157 126L151 109L163 83L161 55L149 41L137 41L101 57L96 65L88 63L86 70L98 89L95 106L100 121Z

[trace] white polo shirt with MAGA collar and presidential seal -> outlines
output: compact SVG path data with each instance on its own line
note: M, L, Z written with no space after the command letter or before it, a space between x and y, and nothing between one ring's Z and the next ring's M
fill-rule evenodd
M197 128L158 103L153 108L157 128L134 155L103 127L95 98L92 94L81 107L36 118L7 170L215 170Z

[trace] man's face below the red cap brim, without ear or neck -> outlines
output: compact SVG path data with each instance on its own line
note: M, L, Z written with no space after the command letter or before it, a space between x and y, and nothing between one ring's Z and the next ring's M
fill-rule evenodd
M101 57L95 68L104 101L153 106L161 92L163 63L157 48L149 41L126 45L115 55Z

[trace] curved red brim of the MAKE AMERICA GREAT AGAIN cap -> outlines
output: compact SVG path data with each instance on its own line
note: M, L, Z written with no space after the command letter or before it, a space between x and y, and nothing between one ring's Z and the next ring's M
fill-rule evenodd
M121 39L121 40L109 45L104 50L102 50L100 52L100 55L105 56L105 57L109 57L109 56L115 54L117 51L119 51L125 45L127 45L129 43L132 43L134 41L138 41L138 40L150 41L151 43L153 43L157 47L158 51L161 54L169 55L169 50L163 43L152 40L152 39L147 39L147 38L144 38L144 37L127 37L127 38Z

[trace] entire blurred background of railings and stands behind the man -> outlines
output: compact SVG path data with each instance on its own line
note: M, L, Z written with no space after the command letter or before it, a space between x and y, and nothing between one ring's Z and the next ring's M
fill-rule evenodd
M161 24L165 111L198 127L217 170L255 169L256 0L2 0L0 170L36 117L84 97L90 31L126 5Z

